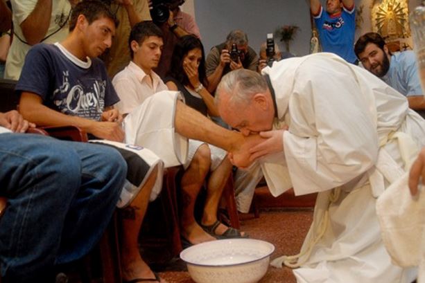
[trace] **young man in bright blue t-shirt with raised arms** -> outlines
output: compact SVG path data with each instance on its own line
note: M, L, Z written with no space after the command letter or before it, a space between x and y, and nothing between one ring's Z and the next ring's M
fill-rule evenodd
M318 28L322 51L335 53L347 62L357 64L354 54L354 0L327 0L326 11L319 0L310 0L310 10Z

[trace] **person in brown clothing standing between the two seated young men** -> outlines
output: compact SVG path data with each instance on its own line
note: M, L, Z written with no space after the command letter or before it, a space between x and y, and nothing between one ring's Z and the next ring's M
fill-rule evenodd
M114 77L131 61L127 44L130 30L140 21L151 21L152 19L148 0L102 0L102 2L110 6L119 20L115 37L112 39L112 46L102 56L108 75Z

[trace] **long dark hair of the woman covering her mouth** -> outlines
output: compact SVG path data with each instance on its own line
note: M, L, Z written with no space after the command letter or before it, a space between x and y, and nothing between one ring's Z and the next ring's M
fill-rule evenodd
M184 35L174 46L173 57L171 57L171 68L168 72L168 76L173 77L183 85L189 84L189 77L187 77L187 74L183 69L183 59L189 51L196 48L200 48L202 53L202 58L198 66L199 81L204 84L204 86L208 86L208 79L205 71L204 46L196 35Z

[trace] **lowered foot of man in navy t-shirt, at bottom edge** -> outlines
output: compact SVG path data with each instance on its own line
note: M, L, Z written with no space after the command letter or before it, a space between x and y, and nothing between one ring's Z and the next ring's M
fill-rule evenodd
M130 281L134 280L136 278L139 279L150 279L152 278L152 281L144 281L144 282L153 282L153 283L167 283L166 280L159 277L159 281L155 279L155 274L150 269L148 264L144 262L141 257L136 257L133 259L130 259L129 257L125 257L124 255L121 256L121 266L122 266L122 276L123 281Z

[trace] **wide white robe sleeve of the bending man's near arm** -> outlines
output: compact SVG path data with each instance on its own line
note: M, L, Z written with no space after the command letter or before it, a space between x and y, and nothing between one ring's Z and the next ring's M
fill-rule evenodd
M379 145L370 107L347 65L308 60L299 67L284 134L295 194L336 188L374 165Z

